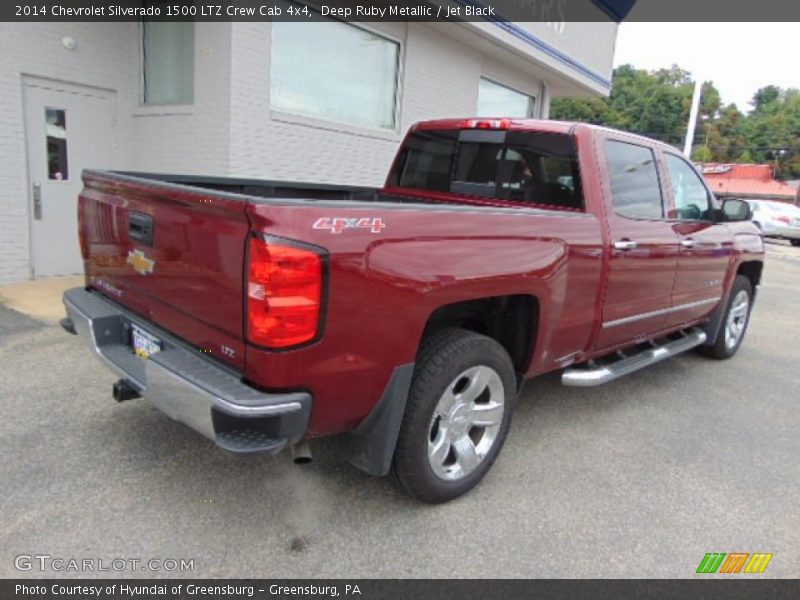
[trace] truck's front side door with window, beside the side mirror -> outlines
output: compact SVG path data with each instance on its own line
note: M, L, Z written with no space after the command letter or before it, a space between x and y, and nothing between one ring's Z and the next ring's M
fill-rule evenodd
M722 297L733 252L728 226L715 223L715 200L686 159L664 152L671 206L668 216L680 238L673 310L668 325L677 326L707 315Z

